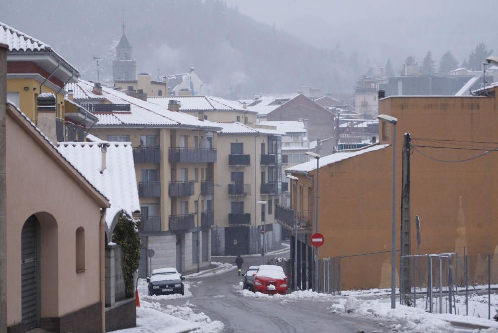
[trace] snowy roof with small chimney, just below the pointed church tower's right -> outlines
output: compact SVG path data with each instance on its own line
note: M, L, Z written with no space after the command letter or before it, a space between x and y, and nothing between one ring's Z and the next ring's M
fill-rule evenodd
M168 108L169 101L179 101L180 111L241 111L255 113L244 109L240 104L214 96L150 96L147 102Z

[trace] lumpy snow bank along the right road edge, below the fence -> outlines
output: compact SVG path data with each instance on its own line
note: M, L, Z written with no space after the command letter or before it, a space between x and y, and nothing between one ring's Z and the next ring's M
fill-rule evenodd
M354 297L341 298L337 301L338 303L334 303L328 308L331 313L351 313L361 317L392 320L396 322L390 328L393 332L440 333L455 331L448 322L427 314L420 309L403 305L396 305L396 309L391 309L388 302L382 303L378 300L358 301Z

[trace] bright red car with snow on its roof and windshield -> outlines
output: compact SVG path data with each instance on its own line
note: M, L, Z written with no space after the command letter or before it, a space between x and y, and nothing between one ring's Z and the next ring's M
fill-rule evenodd
M254 274L254 292L263 294L288 293L288 276L283 272L282 267L276 265L260 265Z

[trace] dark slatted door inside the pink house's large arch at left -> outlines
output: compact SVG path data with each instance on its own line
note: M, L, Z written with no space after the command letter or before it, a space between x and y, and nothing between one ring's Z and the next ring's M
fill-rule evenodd
M24 331L40 322L40 223L31 215L21 231L21 306Z

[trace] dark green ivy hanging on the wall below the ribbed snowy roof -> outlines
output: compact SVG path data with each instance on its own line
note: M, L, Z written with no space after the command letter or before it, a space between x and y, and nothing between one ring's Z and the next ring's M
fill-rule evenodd
M140 236L138 235L137 223L121 214L114 229L113 241L121 245L126 297L132 297L135 293L133 290L133 273L138 268L138 259L140 258Z

